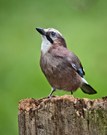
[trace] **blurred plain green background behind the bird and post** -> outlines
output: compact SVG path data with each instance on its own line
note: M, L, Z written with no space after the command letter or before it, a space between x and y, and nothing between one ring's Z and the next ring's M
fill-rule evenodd
M75 97L107 95L106 0L0 0L0 135L18 134L19 100L50 92L39 67L41 38L36 27L54 27L64 35L98 91L89 96L78 90Z

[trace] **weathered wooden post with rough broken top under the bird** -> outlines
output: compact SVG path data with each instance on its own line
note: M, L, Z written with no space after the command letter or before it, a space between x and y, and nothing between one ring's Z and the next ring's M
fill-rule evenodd
M19 135L107 135L107 97L24 99L18 125Z

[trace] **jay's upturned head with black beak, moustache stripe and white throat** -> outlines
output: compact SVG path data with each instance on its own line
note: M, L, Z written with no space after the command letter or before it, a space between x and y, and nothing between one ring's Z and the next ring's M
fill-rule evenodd
M66 47L65 40L62 34L54 28L36 28L36 30L42 35L42 53L46 53L52 46L63 46Z

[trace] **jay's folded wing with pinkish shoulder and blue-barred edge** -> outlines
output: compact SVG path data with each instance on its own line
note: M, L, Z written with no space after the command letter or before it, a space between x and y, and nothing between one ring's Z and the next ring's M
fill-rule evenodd
M72 66L72 68L81 76L83 77L85 75L85 72L83 70L83 66L79 60L79 58L73 53L70 52L67 48L59 46L57 49L53 49L53 54L56 57L63 58L64 61L69 66Z

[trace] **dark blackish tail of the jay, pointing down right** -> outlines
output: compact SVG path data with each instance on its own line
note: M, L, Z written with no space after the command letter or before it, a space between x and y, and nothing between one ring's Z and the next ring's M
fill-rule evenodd
M97 91L95 91L89 84L83 83L81 86L81 90L86 94L96 94Z

